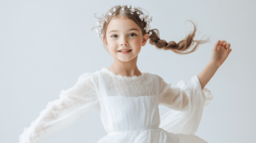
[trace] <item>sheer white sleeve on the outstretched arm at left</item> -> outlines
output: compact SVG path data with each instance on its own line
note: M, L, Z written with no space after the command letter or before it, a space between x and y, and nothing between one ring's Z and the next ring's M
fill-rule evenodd
M39 117L20 134L20 143L39 143L67 128L85 112L99 110L96 89L90 82L92 73L84 73L70 89L61 90L59 99L48 103Z

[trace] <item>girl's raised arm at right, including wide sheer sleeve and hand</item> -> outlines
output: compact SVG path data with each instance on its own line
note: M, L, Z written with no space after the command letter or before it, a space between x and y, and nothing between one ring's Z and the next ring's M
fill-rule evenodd
M209 64L189 82L182 80L177 85L172 85L157 76L160 85L160 105L174 109L160 117L160 128L175 134L195 134L201 121L203 107L212 100L211 91L204 87L231 51L230 44L226 45L228 50L225 50L223 45L225 43L219 41L215 43Z

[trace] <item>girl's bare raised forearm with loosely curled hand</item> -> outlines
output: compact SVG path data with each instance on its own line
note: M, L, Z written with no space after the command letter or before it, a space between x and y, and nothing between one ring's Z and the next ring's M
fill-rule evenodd
M201 89L204 89L215 72L217 72L218 67L224 63L224 60L226 60L231 50L230 44L226 44L225 41L220 42L218 40L218 42L215 43L214 48L212 49L210 62L203 69L203 71L197 75L201 83Z

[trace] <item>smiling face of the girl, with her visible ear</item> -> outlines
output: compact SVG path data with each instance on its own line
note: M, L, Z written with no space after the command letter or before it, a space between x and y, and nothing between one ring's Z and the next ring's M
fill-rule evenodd
M148 41L148 33L144 34L139 26L125 16L113 17L107 27L104 43L114 60L137 60L141 47ZM128 54L119 52L121 49L131 49Z

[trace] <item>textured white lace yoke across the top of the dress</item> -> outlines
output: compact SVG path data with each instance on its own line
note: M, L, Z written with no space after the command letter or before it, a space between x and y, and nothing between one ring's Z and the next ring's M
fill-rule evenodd
M141 75L132 77L116 74L105 67L100 72L106 82L108 96L138 97L158 95L157 79L150 72L142 72ZM96 89L99 89L99 79L96 73L91 74L91 80L95 82Z

